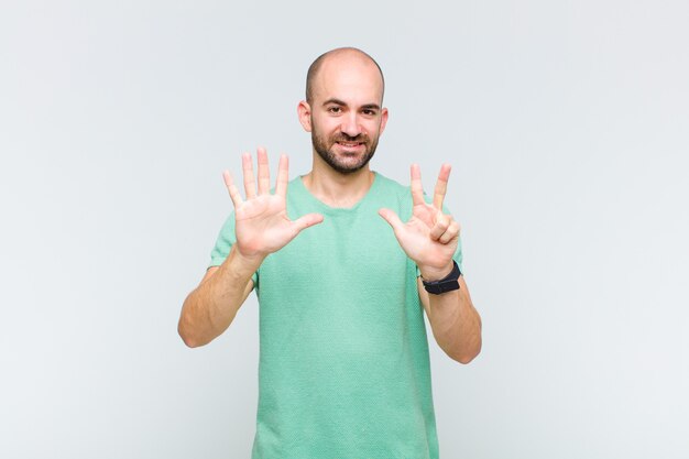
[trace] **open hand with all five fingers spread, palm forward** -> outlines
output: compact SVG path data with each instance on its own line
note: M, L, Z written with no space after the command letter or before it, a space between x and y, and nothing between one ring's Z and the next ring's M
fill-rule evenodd
M253 174L253 161L249 153L242 155L245 199L228 171L222 174L234 205L234 232L237 249L245 258L265 258L292 241L303 229L320 223L322 216L307 214L294 221L287 217L286 195L288 159L280 157L275 194L271 194L271 177L265 149L258 151L259 177Z

